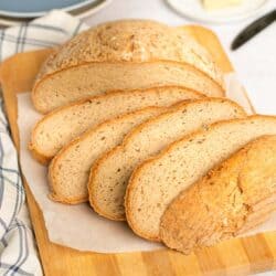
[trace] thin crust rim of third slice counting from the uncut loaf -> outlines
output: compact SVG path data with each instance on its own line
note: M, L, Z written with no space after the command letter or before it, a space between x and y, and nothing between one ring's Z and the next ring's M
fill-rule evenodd
M231 99L226 99L226 98L202 98L202 99L195 99L195 100L191 100L191 102L184 102L184 103L177 103L174 105L172 105L173 108L183 108L183 106L189 106L189 105L193 105L194 103L204 103L206 100L212 100L212 102L217 102L217 103L223 103L223 102L230 102L231 104L233 104L234 106L236 106L238 113L241 115L246 116L244 109L235 102L231 100ZM173 109L172 109L173 110ZM89 181L88 181L88 189L89 189L89 202L91 205L95 209L95 211L107 217L110 220L115 220L115 221L125 221L126 217L124 216L117 216L114 214L114 216L112 216L110 214L106 213L100 206L97 205L97 200L94 198L95 194L95 189L96 184L94 182L94 179L96 178L96 176L98 174L98 170L99 167L102 166L102 163L104 163L108 158L110 158L110 156L116 156L117 152L119 152L121 149L124 149L132 139L132 137L135 137L137 134L139 134L141 131L142 128L145 128L148 125L151 125L155 121L158 121L161 117L166 117L168 116L168 114L170 114L171 110L168 110L164 114L159 115L156 118L152 118L150 120L147 120L142 124L140 124L139 126L137 126L135 129L132 129L123 140L121 145L115 147L114 149L107 151L105 155L103 155L100 158L98 158L98 160L94 163L94 166L91 169L91 176L89 176ZM126 197L127 198L127 197ZM147 237L150 241L159 241L158 238L150 238L149 236Z

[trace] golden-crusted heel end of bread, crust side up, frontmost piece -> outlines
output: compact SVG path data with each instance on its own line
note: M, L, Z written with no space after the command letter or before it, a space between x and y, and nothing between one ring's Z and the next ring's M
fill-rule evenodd
M276 136L262 137L184 190L166 210L160 237L185 254L254 227L276 209Z

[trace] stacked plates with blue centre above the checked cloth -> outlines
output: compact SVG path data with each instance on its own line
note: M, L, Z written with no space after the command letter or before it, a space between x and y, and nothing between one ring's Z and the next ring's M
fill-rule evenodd
M112 0L0 0L0 25L15 25L61 9L82 19L110 3Z

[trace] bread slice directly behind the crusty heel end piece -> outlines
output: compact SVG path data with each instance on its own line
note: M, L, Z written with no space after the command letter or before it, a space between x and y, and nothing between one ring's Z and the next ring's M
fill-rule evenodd
M169 203L214 166L263 135L276 135L276 117L221 121L142 163L132 173L126 193L130 227L145 238L160 241L160 219Z

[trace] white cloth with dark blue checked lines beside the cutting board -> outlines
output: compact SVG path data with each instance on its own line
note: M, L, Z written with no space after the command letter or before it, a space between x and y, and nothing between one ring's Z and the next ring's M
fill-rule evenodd
M85 29L78 19L57 10L2 29L0 62L19 52L59 45ZM42 275L24 200L17 150L0 99L0 275Z

